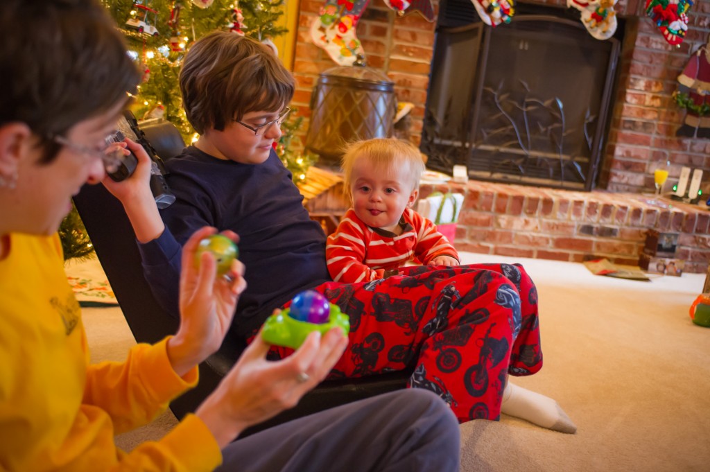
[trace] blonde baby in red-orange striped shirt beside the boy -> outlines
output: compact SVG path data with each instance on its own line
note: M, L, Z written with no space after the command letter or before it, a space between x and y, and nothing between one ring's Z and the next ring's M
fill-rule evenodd
M454 246L412 209L425 170L417 148L395 138L356 141L345 150L342 170L352 208L327 241L334 281L381 279L413 259L459 265Z

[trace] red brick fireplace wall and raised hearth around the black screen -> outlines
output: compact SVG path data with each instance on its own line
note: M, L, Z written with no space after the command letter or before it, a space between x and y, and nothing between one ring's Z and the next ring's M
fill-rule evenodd
M432 3L437 12L439 1ZM565 2L551 0L545 5L564 7ZM297 91L293 103L305 117L310 114L311 90L318 75L336 66L327 53L310 42L308 28L321 6L322 2L316 0L300 3L293 63ZM672 100L676 77L690 52L704 45L710 33L710 0L699 0L692 6L689 31L679 48L667 45L643 13L643 7L643 0L619 0L616 5L626 27L596 189L564 192L469 182L466 188L459 189L467 197L457 246L501 254L515 248L519 256L562 260L581 260L595 254L611 256L616 251L620 260L630 261L643 246L645 229L654 228L681 235L678 255L690 262L686 270L706 269L710 260L706 236L710 212L670 201L648 203L650 200L640 198L640 194L652 191L652 172L665 160L671 163L667 185L677 180L685 165L704 170L701 189L704 194L710 191L710 141L675 136L683 112ZM436 23L429 23L418 13L396 17L378 0L371 1L357 27L368 66L391 78L399 101L415 105L411 132L417 143L425 113L435 27ZM306 130L307 119L301 130L304 136ZM518 207L520 213L515 214ZM541 220L533 223L517 218ZM515 236L518 231L520 236ZM525 231L528 237L523 236ZM488 241L481 246L481 238L486 237ZM569 241L560 240L561 237ZM574 241L577 239L580 241ZM496 240L500 241L491 242Z

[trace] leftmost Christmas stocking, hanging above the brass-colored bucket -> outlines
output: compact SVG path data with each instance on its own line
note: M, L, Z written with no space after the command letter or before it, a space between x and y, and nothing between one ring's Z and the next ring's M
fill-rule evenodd
M365 55L355 35L357 23L369 0L327 0L320 16L313 19L310 36L339 65L353 65L357 55Z

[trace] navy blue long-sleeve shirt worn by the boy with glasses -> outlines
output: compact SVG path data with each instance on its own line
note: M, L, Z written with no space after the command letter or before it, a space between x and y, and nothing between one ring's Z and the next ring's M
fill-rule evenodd
M247 287L232 331L246 338L273 309L301 290L330 280L325 235L303 207L290 172L271 151L266 162L241 164L190 146L166 163L174 204L160 211L166 229L139 244L143 271L158 302L179 316L182 244L202 226L239 234Z

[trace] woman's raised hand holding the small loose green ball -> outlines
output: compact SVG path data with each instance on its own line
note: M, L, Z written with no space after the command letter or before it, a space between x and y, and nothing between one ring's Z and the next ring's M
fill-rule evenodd
M180 329L168 341L168 358L178 375L204 361L222 346L234 318L236 302L246 288L244 264L232 261L225 275L217 276L217 261L204 251L200 263L195 260L202 238L216 233L204 227L195 231L182 248L180 274ZM231 231L222 233L232 241L239 238Z

